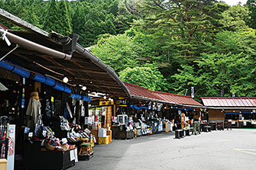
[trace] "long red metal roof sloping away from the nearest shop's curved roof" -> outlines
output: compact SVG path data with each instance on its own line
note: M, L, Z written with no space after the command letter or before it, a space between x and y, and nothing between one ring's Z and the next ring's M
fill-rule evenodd
M157 99L160 101L166 101L174 104L188 104L188 105L199 105L203 106L199 102L190 98L190 96L185 95L175 95L170 93L164 93L159 91L149 91L147 88L142 88L138 85L133 85L128 82L124 82L131 95L141 96L144 98L151 98L152 100Z

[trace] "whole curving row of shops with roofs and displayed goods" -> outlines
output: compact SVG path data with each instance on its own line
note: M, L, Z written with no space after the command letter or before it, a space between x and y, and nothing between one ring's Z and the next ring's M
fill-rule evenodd
M211 98L201 104L122 82L76 43L79 35L47 33L2 9L0 18L24 29L0 24L0 143L7 169L68 168L89 160L96 143L170 132L195 121L256 123L254 104L237 114L241 105L206 104Z

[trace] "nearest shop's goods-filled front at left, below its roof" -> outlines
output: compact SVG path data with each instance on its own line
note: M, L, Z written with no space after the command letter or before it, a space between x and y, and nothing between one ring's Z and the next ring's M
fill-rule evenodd
M79 115L84 116L84 104L88 103L89 97L75 95L67 86L60 91L63 85L60 82L54 82L60 86L52 88L47 83L38 83L1 70L8 75L0 75L1 120L7 117L11 125L9 132L12 128L14 133L8 137L11 143L8 147L12 147L9 150L13 152L8 157L2 157L8 159L8 167L61 169L92 156L91 133L79 126ZM11 135L16 138L10 138ZM83 147L87 147L88 151ZM15 155L21 162L14 162L11 156Z

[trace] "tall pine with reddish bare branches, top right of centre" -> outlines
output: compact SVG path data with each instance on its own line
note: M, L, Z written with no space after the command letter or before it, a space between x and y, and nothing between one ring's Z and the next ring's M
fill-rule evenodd
M152 34L161 34L163 48L171 50L180 63L193 64L193 60L206 50L203 43L222 28L219 22L225 3L207 1L144 0L140 5L146 15L144 27Z

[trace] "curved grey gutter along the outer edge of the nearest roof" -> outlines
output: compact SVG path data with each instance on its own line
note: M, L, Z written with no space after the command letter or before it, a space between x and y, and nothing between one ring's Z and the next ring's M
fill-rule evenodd
M83 56L88 57L89 59L92 59L92 62L95 63L100 68L104 69L109 73L109 75L114 79L116 82L118 82L119 85L122 86L122 88L125 90L125 94L128 96L128 98L131 98L130 91L126 87L126 85L122 82L122 80L116 75L115 71L107 66L105 63L102 62L101 59L99 59L97 56L93 55L92 53L89 53L84 47L82 47L79 43L76 43L76 51Z

